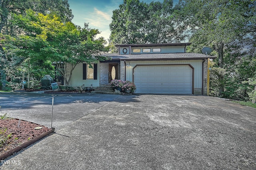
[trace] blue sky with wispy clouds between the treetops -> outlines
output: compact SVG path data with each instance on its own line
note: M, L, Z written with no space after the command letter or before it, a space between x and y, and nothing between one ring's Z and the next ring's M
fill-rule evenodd
M150 3L152 1L164 2L164 0L143 0ZM89 23L89 28L98 29L105 40L110 36L109 24L112 22L113 11L123 4L123 0L68 0L74 18L72 22L84 27L84 23ZM140 0L142 2L142 0ZM178 0L174 0L174 4Z

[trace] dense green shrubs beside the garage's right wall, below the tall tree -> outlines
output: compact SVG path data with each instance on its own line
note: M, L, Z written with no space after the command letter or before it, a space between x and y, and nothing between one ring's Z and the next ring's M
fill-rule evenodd
M210 95L219 96L220 87L224 87L220 97L243 101L254 98L254 84L250 84L248 80L255 77L256 59L250 55L240 55L242 54L233 53L226 56L224 68L216 67L216 63L212 62Z

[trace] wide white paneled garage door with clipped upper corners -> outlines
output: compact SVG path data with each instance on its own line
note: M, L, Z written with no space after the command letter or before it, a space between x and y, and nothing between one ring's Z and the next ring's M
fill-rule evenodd
M192 94L189 65L145 65L134 69L135 93Z

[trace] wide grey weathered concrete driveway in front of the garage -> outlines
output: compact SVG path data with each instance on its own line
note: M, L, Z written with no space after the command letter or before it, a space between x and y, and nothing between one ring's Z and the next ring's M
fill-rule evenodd
M206 96L71 96L54 99L54 120L64 120L53 123L58 130L0 168L256 169L256 109ZM23 119L40 122L38 112L46 111L39 106L51 112L51 101L40 101L21 109L3 105L0 114L22 111Z

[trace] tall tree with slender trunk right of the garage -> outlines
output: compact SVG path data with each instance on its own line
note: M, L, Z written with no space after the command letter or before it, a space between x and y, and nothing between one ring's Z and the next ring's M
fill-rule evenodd
M247 54L255 55L255 6L252 0L180 0L174 18L178 33L192 42L190 51L211 47L218 54L218 67L225 69L224 57L234 51L241 53L248 47ZM219 78L221 95L224 80Z

